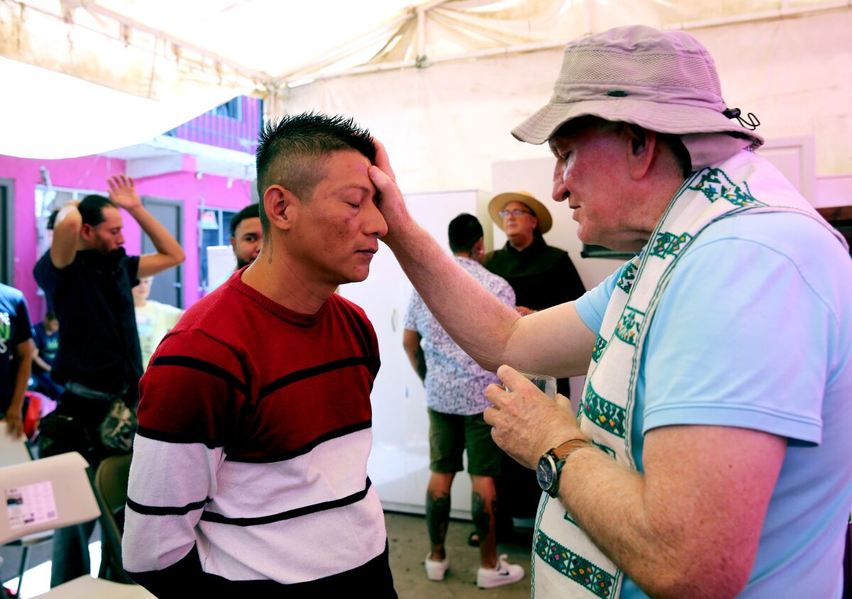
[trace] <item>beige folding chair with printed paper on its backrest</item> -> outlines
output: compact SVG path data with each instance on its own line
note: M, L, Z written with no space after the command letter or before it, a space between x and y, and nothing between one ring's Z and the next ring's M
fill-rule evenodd
M5 494L6 505L6 513L0 515L0 543L99 517L101 510L86 475L88 465L78 452L70 452L0 468L0 489ZM141 586L122 585L86 575L40 596L141 599L153 595Z

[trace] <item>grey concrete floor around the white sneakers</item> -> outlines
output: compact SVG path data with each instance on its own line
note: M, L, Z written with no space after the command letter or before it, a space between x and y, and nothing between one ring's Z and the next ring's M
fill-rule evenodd
M390 546L390 569L400 599L444 599L445 597L475 597L488 599L528 599L530 596L529 565L533 533L516 533L516 539L498 544L498 555L509 555L509 562L521 564L527 575L514 585L483 590L476 586L479 549L469 547L467 540L473 524L469 521L450 522L446 534L446 550L450 569L442 582L426 578L423 559L429 551L429 535L423 516L385 512Z

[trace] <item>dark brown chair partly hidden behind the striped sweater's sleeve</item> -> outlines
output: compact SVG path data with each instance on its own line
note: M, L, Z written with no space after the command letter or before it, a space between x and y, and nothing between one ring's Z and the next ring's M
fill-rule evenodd
M130 458L130 453L110 456L101 461L95 472L95 497L101 505L101 542L105 548L104 559L101 561L101 578L123 582L125 585L133 584L130 576L124 571L121 558ZM121 516L120 522L116 519L118 515Z

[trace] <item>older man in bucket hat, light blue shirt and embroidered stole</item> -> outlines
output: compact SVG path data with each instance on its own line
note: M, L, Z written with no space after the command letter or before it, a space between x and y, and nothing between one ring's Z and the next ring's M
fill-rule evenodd
M545 491L537 597L843 592L852 262L751 153L762 139L737 112L687 33L631 26L568 43L550 103L514 135L548 142L553 198L573 207L580 239L638 255L524 318L412 222L386 154L371 169L385 241L509 389L486 390L485 416ZM579 416L514 368L588 368Z

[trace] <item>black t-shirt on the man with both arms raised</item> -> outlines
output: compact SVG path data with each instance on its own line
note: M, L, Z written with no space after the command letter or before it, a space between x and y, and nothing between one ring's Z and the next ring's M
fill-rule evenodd
M48 305L59 319L59 353L51 377L116 393L136 389L142 358L133 295L139 256L124 248L101 254L78 251L74 262L55 268L50 251L33 268Z

